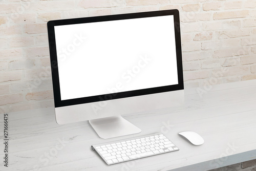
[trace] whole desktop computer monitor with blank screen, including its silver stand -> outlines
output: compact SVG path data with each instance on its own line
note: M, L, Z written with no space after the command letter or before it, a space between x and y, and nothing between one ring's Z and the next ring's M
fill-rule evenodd
M56 122L112 138L141 132L121 115L182 104L179 24L178 10L49 21Z

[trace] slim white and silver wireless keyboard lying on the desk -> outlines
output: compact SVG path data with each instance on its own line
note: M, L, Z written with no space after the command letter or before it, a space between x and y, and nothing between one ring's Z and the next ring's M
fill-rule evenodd
M120 142L92 145L106 164L116 164L148 156L178 151L179 148L161 133Z

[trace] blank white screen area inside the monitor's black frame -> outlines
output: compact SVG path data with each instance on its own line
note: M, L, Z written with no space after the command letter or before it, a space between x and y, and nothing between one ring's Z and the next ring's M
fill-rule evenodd
M61 100L178 84L171 15L54 29Z

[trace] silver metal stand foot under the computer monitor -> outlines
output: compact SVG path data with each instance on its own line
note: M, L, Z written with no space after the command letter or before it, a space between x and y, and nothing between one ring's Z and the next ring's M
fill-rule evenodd
M121 116L89 120L100 138L108 139L124 135L137 134L141 130Z

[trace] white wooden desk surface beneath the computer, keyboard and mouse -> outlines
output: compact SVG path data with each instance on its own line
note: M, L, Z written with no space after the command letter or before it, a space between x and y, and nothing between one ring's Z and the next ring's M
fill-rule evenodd
M185 90L185 101L176 109L124 116L142 132L108 140L100 139L88 121L58 125L53 108L10 113L9 167L1 162L0 170L199 171L256 158L256 80L213 86L202 98L197 89ZM3 115L0 120L3 125ZM91 149L161 131L180 151L108 166ZM199 133L205 143L190 144L178 135L182 131ZM2 158L2 142L0 148Z

